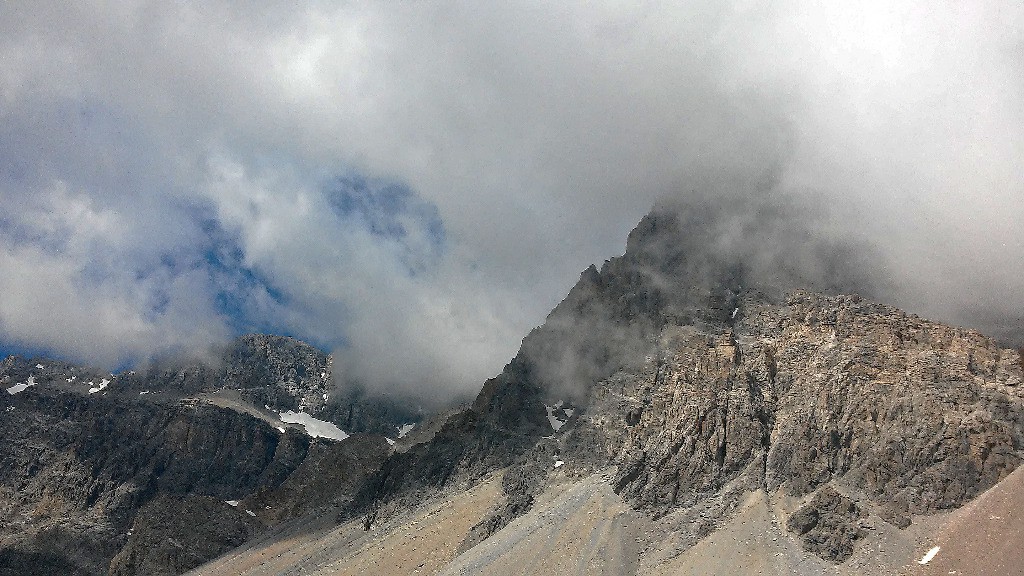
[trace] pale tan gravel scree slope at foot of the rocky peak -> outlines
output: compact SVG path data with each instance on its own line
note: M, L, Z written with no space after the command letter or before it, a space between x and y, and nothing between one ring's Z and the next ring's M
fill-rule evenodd
M1021 574L1024 469L952 512L914 517L900 530L874 515L843 564L804 550L785 530L797 500L746 492L707 537L679 551L678 519L651 521L630 508L607 474L556 479L532 509L456 556L469 529L502 502L501 475L425 502L369 532L360 522L293 525L193 572L193 576L407 575L892 575ZM675 528L679 528L678 526ZM918 561L933 546L927 565Z

